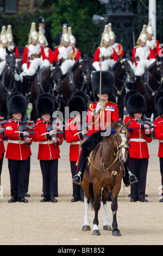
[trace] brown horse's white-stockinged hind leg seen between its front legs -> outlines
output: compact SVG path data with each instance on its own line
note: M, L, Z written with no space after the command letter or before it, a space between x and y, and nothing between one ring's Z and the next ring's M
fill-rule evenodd
M108 202L109 193L103 189L102 192L102 201L103 201L103 229L111 231L111 225L109 223L109 216L108 216L108 208L107 208L107 202Z

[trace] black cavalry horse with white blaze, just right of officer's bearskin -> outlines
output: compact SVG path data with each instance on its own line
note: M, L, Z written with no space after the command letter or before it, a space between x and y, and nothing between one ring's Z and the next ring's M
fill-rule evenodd
M131 84L135 81L132 59L127 56L119 58L110 70L115 79L113 93L117 97L120 120L123 121L123 98L126 91L130 89Z

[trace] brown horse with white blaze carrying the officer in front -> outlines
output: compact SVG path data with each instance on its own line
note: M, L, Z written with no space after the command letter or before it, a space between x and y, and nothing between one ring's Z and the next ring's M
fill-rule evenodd
M112 235L121 236L117 228L117 197L121 189L121 180L123 178L123 163L128 157L128 139L131 119L124 124L122 121L114 122L114 130L111 130L110 136L104 137L97 144L93 153L89 156L89 172L85 170L82 187L84 190L85 218L82 230L90 230L89 203L91 202L95 210L93 220L93 235L101 235L98 228L98 211L102 202L104 207L103 222L104 230L112 230ZM106 203L109 197L109 191L112 191L111 210L113 214L112 229L109 224Z

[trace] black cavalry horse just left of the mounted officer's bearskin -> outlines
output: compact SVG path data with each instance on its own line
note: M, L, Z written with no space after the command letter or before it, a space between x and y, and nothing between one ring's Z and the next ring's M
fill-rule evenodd
M65 106L68 100L70 100L71 95L77 90L83 90L87 94L90 93L91 69L91 58L82 53L72 68L68 70L62 83L62 95Z

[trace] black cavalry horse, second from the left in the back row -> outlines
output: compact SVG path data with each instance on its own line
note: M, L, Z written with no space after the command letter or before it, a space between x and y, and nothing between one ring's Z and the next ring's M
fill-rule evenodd
M50 93L54 96L55 107L60 103L62 90L62 72L60 66L53 62L48 68L36 72L35 78L30 86L30 102L33 104L31 119L37 120L36 100L41 93ZM60 108L60 107L59 107Z

